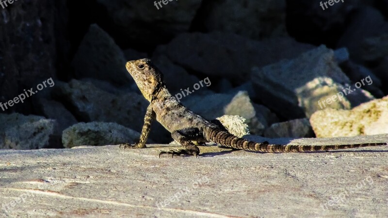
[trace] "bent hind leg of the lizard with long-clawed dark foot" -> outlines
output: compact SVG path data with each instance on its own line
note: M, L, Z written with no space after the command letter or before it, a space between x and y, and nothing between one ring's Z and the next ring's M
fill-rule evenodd
M171 137L178 141L178 143L183 146L183 149L179 149L178 151L162 151L159 154L159 157L162 154L167 154L168 156L171 155L172 157L174 157L174 155L191 155L195 157L199 155L199 148L193 143L193 141L201 144L204 137L198 128L185 128L177 130L171 133Z

